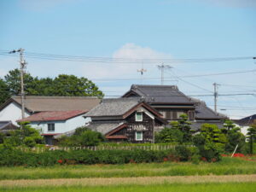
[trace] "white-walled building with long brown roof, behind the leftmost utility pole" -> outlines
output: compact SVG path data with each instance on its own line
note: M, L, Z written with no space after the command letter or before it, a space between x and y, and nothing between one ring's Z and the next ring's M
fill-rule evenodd
M100 101L94 96L26 96L25 117L45 111L90 111ZM11 121L17 125L18 119L21 119L20 96L12 96L0 106L0 121Z

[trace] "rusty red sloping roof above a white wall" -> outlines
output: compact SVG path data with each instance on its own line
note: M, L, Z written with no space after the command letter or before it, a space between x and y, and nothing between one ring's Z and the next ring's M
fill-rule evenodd
M67 120L84 114L84 110L73 110L73 111L45 111L40 113L32 114L31 116L17 120L20 121L30 121L30 122L43 122L43 121L53 121L53 120Z

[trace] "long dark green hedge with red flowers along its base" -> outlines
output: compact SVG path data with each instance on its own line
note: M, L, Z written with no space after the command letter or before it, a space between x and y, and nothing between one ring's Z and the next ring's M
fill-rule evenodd
M40 154L16 149L0 149L0 166L54 166L56 164L125 164L191 160L195 148L179 146L164 151L135 150L73 150L45 151Z

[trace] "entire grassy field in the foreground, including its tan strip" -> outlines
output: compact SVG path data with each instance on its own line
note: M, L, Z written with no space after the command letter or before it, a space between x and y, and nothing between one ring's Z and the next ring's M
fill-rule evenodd
M1 167L0 191L253 192L256 161L224 157L216 163Z

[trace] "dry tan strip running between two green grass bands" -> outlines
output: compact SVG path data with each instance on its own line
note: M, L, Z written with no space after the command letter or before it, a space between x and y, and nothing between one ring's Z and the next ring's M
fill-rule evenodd
M66 178L37 180L3 180L1 187L46 187L46 186L99 186L120 184L163 184L163 183L245 183L256 182L256 175L232 176L175 176L175 177L114 177L114 178Z

